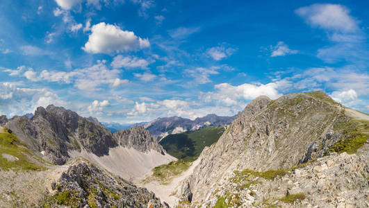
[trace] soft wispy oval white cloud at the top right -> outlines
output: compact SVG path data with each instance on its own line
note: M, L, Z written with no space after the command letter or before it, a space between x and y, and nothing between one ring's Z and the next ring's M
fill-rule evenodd
M352 18L345 6L330 3L316 3L295 10L311 26L323 29L352 32L358 29L356 20Z

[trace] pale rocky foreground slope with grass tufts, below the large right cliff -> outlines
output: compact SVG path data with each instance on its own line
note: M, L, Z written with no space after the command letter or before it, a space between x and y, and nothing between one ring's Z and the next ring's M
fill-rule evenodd
M275 178L231 173L202 207L223 196L229 207L369 207L368 154L336 153Z

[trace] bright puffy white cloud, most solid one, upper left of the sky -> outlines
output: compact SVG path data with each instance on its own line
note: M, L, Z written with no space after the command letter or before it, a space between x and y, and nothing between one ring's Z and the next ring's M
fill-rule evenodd
M149 40L137 37L131 31L122 31L112 24L101 22L92 26L91 31L88 42L82 48L88 53L118 53L149 47Z

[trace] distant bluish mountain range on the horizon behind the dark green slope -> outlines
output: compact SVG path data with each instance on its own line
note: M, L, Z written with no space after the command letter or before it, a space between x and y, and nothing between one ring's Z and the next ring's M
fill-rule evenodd
M208 126L222 126L231 123L235 116L217 116L208 114L195 120L183 119L179 116L158 118L145 124L153 137L161 139L170 134L186 132L188 130L199 130Z

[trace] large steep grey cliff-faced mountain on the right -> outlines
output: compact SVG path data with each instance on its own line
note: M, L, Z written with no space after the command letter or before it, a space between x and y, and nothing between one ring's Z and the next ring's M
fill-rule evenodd
M261 96L240 112L217 144L205 148L183 182L184 200L214 198L215 184L235 170L288 169L329 153L344 139L345 110L324 92ZM184 197L183 197L184 196Z

